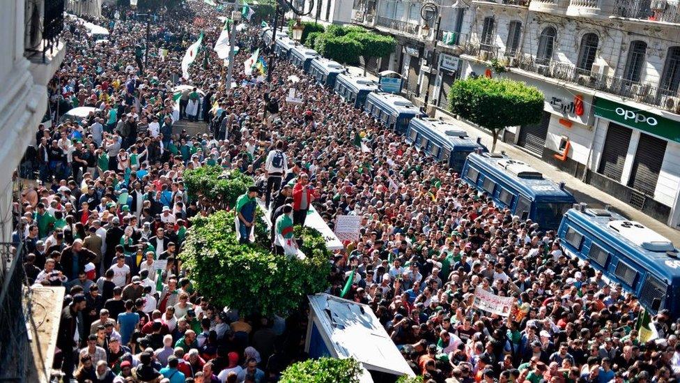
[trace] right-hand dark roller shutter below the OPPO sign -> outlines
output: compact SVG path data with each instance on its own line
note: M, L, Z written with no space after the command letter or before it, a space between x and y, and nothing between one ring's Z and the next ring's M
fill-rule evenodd
M640 134L638 152L635 153L628 186L640 190L646 195L654 195L658 175L661 172L663 155L666 152L666 144L667 142L660 138L644 133Z

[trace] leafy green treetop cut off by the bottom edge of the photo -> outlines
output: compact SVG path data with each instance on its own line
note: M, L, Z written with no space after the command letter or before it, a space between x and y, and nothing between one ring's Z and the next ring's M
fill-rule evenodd
M362 368L356 359L320 358L288 366L281 383L359 383Z

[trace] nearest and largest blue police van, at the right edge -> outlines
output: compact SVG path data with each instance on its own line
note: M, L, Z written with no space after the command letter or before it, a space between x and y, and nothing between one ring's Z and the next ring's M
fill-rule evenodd
M603 277L632 292L642 306L680 317L680 259L672 241L605 209L575 205L557 230L567 255L588 261Z

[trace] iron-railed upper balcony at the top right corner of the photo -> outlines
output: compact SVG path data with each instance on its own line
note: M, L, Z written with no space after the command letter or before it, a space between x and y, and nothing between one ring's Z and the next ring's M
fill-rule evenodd
M666 0L615 0L615 17L680 24L680 4Z

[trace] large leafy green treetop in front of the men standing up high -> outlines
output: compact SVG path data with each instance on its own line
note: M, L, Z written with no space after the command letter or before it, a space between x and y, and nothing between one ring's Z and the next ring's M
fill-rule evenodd
M318 232L305 231L302 236L304 259L289 259L270 252L268 230L261 220L256 220L255 243L239 243L234 220L233 211L192 218L179 255L196 289L216 306L246 315L286 315L307 294L328 287L331 253Z

